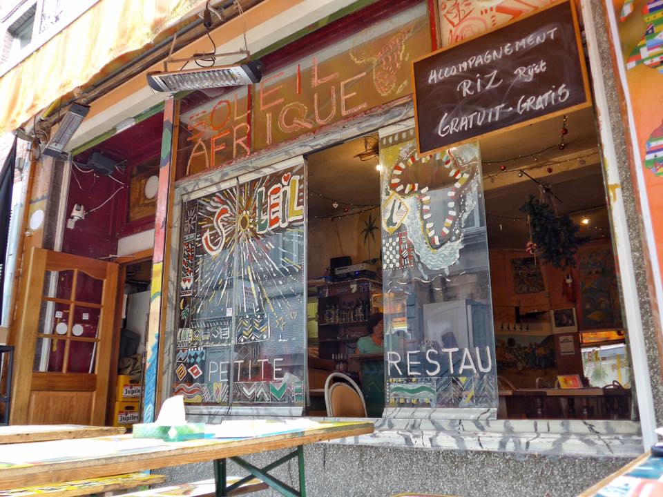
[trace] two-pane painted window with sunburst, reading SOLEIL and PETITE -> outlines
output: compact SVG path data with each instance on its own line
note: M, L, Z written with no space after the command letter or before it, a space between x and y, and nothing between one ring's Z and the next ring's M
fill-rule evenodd
M305 176L287 168L186 202L174 393L303 405Z

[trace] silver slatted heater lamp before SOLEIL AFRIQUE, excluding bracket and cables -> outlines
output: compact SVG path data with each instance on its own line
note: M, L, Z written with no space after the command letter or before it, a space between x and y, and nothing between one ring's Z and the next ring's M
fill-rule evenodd
M148 72L147 74L147 84L159 92L242 86L258 83L260 79L262 79L262 61L260 60L236 66Z

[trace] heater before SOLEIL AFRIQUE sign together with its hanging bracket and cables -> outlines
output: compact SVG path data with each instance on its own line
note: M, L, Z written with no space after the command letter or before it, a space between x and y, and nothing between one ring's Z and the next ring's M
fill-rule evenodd
M243 86L258 83L262 79L262 61L250 60L251 54L248 48L237 52L216 53L216 45L209 35L211 23L211 10L207 8L203 12L204 26L207 28L207 37L212 42L212 52L195 53L193 57L185 59L173 58L173 48L177 35L173 37L171 50L164 61L164 70L160 72L148 72L147 84L158 92L178 92L182 90L204 90L205 88L220 88L222 86ZM219 57L230 55L246 55L249 61L243 64L232 64L230 66L215 66ZM169 63L194 62L198 67L182 70L168 70ZM201 62L205 62L203 66Z

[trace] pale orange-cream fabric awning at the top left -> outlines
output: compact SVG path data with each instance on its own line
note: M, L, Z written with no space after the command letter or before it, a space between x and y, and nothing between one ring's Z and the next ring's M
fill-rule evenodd
M0 78L0 135L136 57L202 0L100 0ZM195 19L189 19L189 21ZM133 52L133 53L131 53Z

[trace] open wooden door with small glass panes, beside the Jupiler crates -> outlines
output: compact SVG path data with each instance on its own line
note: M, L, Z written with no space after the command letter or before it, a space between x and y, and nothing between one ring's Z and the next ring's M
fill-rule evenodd
M104 425L117 268L32 249L17 331L12 424Z

